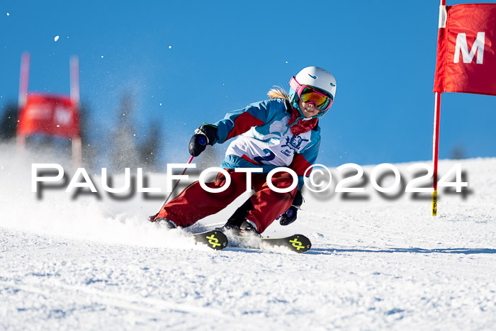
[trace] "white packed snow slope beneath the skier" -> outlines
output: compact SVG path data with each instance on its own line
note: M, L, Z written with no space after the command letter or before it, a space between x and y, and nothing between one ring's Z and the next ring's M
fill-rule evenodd
M195 245L147 223L162 201L142 193L39 199L31 164L2 158L0 329L494 330L496 159L444 160L439 173L454 164L468 188L440 189L436 217L429 193L381 196L373 166L348 185L364 193L307 191L295 223L264 232L307 235L312 249L294 254ZM406 183L410 165L395 164ZM164 189L165 174L149 179ZM222 223L246 197L187 230Z

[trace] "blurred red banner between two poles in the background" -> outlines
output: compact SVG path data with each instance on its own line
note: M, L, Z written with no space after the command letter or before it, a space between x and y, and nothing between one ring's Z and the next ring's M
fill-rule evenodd
M18 135L35 133L79 137L79 113L69 96L28 95L19 116Z

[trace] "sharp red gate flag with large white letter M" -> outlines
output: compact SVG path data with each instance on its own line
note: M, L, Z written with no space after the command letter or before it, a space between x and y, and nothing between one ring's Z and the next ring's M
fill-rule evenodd
M434 92L496 95L496 4L441 11Z

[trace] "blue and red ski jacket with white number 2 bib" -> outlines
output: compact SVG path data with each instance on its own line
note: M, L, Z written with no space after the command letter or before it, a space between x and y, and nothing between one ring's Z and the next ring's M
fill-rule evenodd
M315 164L320 147L320 128L293 135L288 121L291 106L283 99L251 103L231 111L219 120L214 144L233 140L225 153L224 169L261 167L264 173L276 167L289 167L298 174L298 189L303 175ZM307 173L310 176L310 172Z

